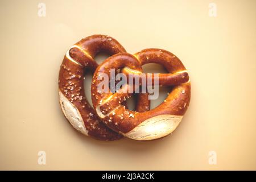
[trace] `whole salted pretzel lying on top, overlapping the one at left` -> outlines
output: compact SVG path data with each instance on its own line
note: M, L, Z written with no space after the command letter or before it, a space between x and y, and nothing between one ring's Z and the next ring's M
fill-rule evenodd
M159 73L159 85L174 85L166 100L154 109L132 111L121 105L129 97L129 93L97 92L101 82L97 77L103 73L110 76L110 68L122 69L123 73L139 76L142 74L142 65L147 63L162 64L169 72ZM131 86L134 85L125 85L120 90L127 90ZM94 109L110 129L127 138L152 140L171 134L179 125L189 105L191 85L187 70L174 54L163 49L144 49L134 55L118 53L108 57L94 72L91 92L94 93Z

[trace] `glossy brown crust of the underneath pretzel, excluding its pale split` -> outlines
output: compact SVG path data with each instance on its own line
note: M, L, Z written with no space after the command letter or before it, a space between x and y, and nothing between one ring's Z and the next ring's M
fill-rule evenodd
M71 61L67 55L64 56L59 72L59 90L79 110L90 137L116 140L122 138L122 135L115 133L101 122L84 94L84 75L86 71L94 72L98 67L94 57L99 52L114 55L126 51L117 40L107 35L92 35L80 40L68 52L71 59L78 64Z

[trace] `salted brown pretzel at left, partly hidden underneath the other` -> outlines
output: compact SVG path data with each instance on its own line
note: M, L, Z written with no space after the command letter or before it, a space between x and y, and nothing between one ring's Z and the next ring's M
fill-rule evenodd
M84 94L84 75L98 67L94 57L98 52L114 55L126 52L114 38L106 35L92 35L68 49L59 72L59 101L65 118L80 133L100 140L115 140L122 135L109 129L88 104ZM94 93L92 93L94 96ZM138 111L146 111L150 102L147 94L139 96Z

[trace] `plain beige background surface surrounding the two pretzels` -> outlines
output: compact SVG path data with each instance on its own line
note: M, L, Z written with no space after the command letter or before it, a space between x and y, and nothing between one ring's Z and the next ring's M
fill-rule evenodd
M1 0L0 169L255 170L256 1L214 0L215 18L210 2ZM163 48L183 61L192 98L172 135L101 142L64 119L59 67L67 49L92 34L113 36L130 53ZM41 150L46 165L38 164Z

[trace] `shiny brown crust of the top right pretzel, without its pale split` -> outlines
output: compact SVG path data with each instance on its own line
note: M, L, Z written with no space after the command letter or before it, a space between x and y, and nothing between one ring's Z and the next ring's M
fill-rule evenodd
M167 78L162 76L162 84L174 85L166 100L158 107L155 107L155 109L145 112L131 111L121 106L121 102L125 100L126 97L129 97L129 94L97 93L97 85L100 83L100 80L97 80L99 74L106 73L109 75L110 68L122 69L124 67L129 67L135 71L142 71L141 66L147 63L162 64L170 73L170 75L164 75L167 76ZM191 93L188 74L183 74L183 72L186 72L186 69L181 61L171 52L164 51L163 49L144 49L141 52L135 53L135 55L118 53L110 56L97 67L96 72L94 73L91 87L92 93L95 93L95 95L92 96L93 107L100 107L101 113L105 114L105 117L102 118L102 120L110 127L110 129L124 134L133 130L146 119L157 115L183 115L189 105ZM179 76L175 76L174 79L174 75ZM129 86L124 87L123 89L127 88L129 88ZM104 103L104 101L111 95L113 95L111 99ZM114 114L106 115L113 109Z

